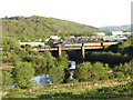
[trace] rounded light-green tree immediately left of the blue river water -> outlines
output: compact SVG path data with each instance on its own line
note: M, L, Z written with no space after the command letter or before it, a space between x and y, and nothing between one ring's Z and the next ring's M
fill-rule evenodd
M34 76L34 69L28 62L21 62L13 69L13 82L18 88L29 88L32 86L31 78Z

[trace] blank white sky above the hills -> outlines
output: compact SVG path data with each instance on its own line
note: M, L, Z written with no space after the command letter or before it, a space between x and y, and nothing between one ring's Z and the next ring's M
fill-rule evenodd
M2 0L0 18L41 16L93 27L131 23L133 0Z

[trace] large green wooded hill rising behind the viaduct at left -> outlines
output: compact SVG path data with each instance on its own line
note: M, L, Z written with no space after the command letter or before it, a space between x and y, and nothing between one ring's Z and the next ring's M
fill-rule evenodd
M18 39L43 39L52 34L58 36L90 36L98 28L80 24L66 20L54 18L44 18L39 16L32 17L11 17L2 19L2 32L7 37Z

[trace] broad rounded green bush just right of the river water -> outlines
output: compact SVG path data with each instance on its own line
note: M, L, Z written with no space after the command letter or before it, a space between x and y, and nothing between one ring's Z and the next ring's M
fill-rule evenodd
M106 79L106 64L104 66L101 62L83 62L79 64L75 69L75 78L79 81L89 81L89 80L102 80Z

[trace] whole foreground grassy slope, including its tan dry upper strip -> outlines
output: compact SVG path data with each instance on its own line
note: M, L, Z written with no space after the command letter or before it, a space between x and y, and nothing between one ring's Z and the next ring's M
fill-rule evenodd
M29 90L18 92L19 89L12 90L3 98L39 98L39 99L133 99L133 82L131 81L100 81L88 82L82 86L74 84L57 84L43 87L39 90ZM116 99L117 100L117 99Z

